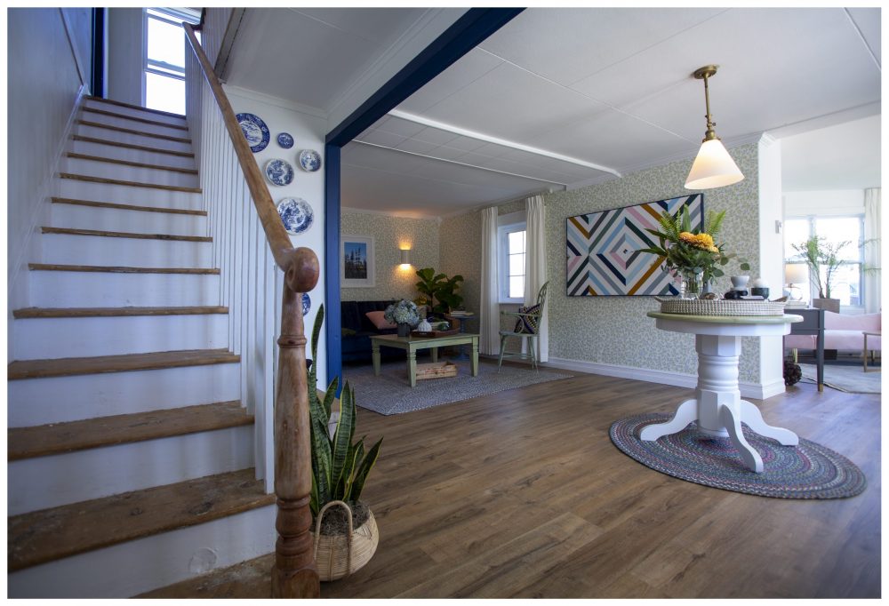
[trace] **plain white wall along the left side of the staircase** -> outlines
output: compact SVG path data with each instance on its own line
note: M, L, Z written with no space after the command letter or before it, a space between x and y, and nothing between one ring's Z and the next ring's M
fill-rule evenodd
M36 232L48 224L56 185L52 177L84 82L60 9L13 8L7 15L6 270L11 313L28 307L27 264L41 260ZM13 359L9 341L7 353Z

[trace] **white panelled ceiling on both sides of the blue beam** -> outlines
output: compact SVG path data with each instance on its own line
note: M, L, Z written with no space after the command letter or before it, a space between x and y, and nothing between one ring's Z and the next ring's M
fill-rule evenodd
M229 82L329 110L423 9L247 14ZM690 158L705 130L690 74L709 63L730 148L877 114L879 19L877 8L528 9L344 149L342 205L446 215ZM271 48L242 51L260 43ZM272 78L260 55L306 59Z

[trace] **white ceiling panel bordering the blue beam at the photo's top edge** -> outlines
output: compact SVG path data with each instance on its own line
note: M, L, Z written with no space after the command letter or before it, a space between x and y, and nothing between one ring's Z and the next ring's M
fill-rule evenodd
M649 8L628 20L626 9L619 8L531 8L480 46L535 74L570 85L723 11ZM541 40L547 43L540 44Z

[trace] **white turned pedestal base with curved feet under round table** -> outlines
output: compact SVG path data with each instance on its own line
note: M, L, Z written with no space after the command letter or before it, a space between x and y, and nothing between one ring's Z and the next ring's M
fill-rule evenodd
M642 440L651 442L663 435L676 434L697 421L704 434L730 438L744 465L757 473L763 471L763 459L744 439L741 422L784 446L799 443L799 437L792 431L766 424L755 404L741 400L738 388L741 337L699 334L695 338L695 349L698 352L696 397L679 404L669 421L644 427L639 434Z

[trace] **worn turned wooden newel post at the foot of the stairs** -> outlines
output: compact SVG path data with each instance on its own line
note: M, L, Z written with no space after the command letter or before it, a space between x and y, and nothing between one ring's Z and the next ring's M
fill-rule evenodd
M306 335L302 293L318 281L318 259L307 248L290 253L284 276L278 380L275 397L275 493L278 533L273 598L317 598L321 589L315 567L312 513L312 458L309 437Z

